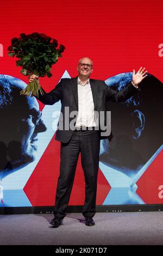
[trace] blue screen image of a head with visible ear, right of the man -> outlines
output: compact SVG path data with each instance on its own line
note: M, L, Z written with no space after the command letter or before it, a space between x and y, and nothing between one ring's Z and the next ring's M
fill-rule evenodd
M108 78L107 86L117 91L132 79L132 73ZM100 163L111 190L104 204L143 203L136 196L136 181L162 148L163 85L153 75L140 84L140 91L123 103L108 102L112 141L101 141Z

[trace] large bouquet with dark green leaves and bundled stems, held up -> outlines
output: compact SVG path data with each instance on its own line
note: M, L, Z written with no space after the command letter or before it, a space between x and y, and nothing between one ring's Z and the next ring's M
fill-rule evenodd
M39 77L51 77L52 65L58 62L58 58L62 57L65 46L58 47L58 41L52 39L46 34L32 33L20 34L19 38L11 39L11 46L8 47L8 55L16 56L17 66L22 66L21 73L24 76L32 74ZM43 95L40 84L34 80L21 91L21 94L27 96L39 96L39 91Z

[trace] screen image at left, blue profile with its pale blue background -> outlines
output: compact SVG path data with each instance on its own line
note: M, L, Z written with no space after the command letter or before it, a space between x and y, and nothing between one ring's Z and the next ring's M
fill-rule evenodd
M70 76L65 71L62 77ZM23 188L57 130L60 101L53 106L44 106L40 112L35 97L20 95L20 91L26 86L27 84L18 78L0 75L0 207L2 208L32 206ZM53 118L54 113L55 118ZM38 193L36 184L36 197Z

